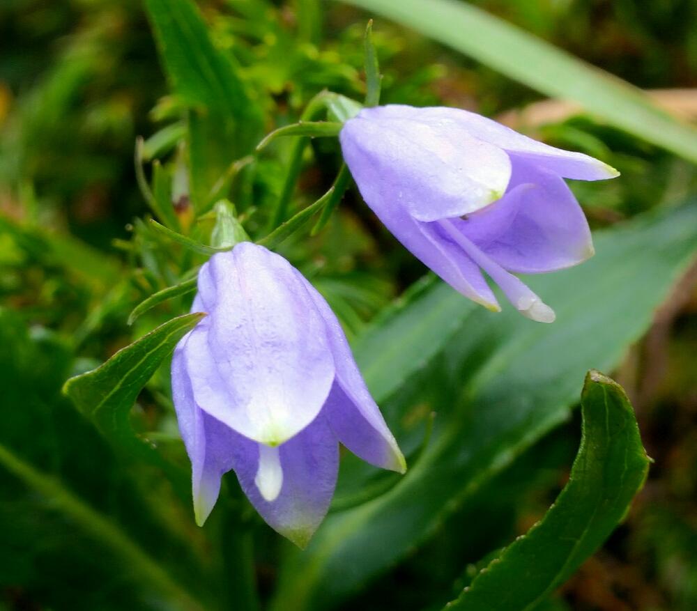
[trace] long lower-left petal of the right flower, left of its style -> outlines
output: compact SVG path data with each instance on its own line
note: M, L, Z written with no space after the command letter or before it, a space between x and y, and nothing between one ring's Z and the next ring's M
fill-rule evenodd
M343 132L342 132L343 133ZM411 253L443 280L471 300L498 311L496 297L482 274L461 249L434 239L429 224L409 214L392 190L392 176L399 167L380 167L362 159L362 150L353 139L342 141L344 158L365 202ZM429 200L430 201L430 200Z

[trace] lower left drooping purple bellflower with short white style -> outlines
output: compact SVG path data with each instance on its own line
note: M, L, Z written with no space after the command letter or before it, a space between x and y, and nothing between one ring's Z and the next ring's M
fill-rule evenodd
M282 256L250 242L215 254L192 311L208 316L178 343L171 373L197 523L234 470L264 520L305 546L334 493L339 442L404 472L336 316Z

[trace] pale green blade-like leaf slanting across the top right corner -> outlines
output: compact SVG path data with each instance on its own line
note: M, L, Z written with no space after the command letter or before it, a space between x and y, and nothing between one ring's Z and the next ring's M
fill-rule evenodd
M395 20L545 95L697 162L697 130L638 88L466 2L342 0Z

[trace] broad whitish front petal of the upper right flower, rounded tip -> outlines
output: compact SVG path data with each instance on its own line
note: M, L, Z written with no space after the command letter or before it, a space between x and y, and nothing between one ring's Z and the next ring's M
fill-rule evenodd
M389 109L363 109L339 134L357 182L372 166L381 190L421 221L468 214L503 195L511 174L503 150L459 123L423 121L420 114L392 118Z

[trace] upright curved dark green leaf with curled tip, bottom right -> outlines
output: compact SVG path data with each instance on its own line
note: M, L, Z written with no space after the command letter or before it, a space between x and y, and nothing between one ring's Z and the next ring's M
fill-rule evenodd
M555 504L525 536L492 559L447 609L533 608L565 582L624 518L649 465L634 411L620 385L590 371L581 413L581 447L569 483Z

